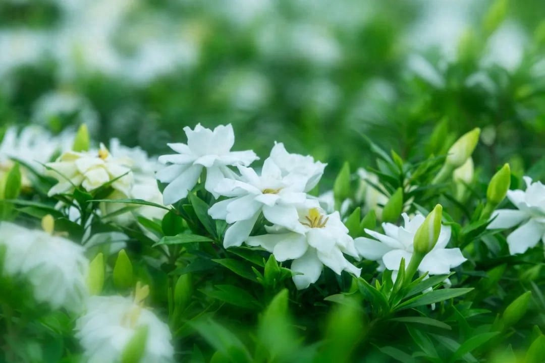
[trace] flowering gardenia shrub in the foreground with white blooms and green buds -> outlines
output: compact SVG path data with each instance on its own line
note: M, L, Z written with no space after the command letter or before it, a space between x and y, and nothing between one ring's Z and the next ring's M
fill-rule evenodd
M1 361L545 359L545 187L476 180L479 128L423 159L364 138L376 161L331 184L281 135L183 130L158 158L4 136Z

